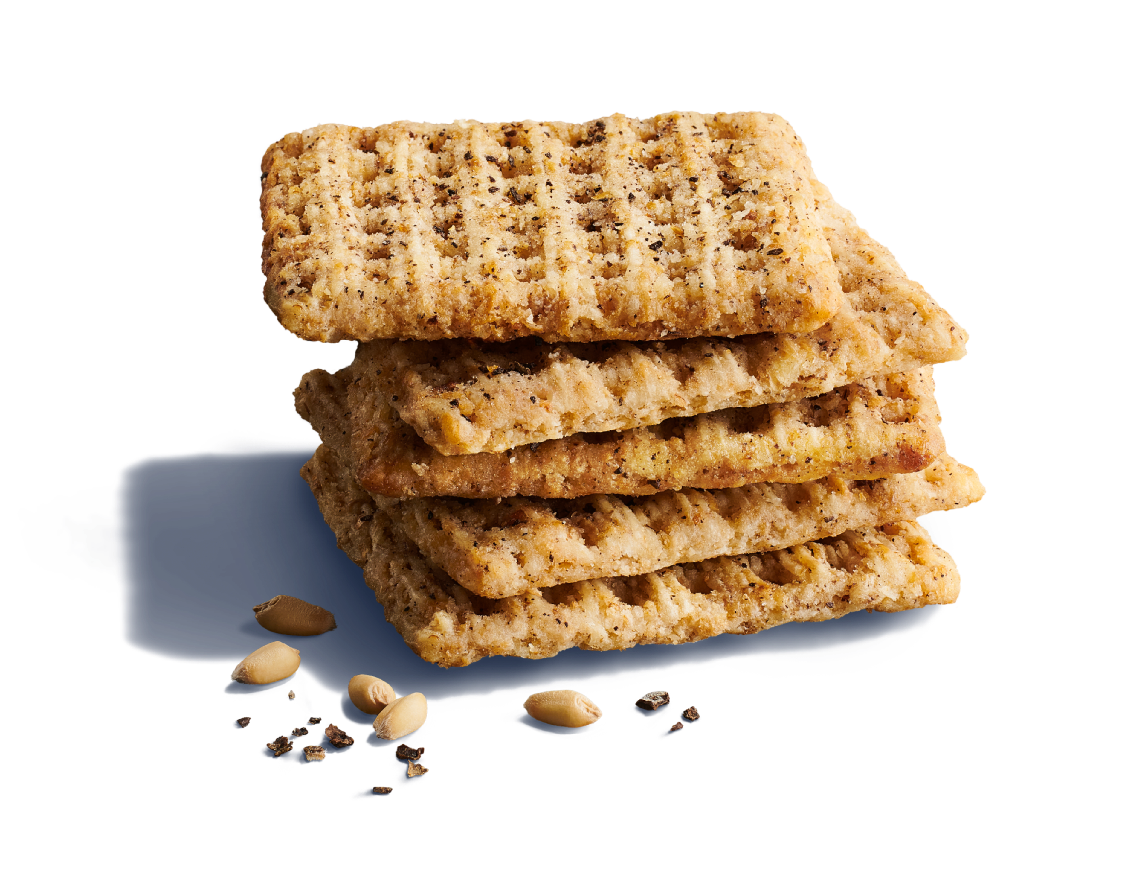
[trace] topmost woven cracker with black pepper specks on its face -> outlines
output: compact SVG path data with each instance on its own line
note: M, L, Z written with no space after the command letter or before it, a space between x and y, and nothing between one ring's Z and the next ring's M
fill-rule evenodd
M259 169L263 299L303 340L804 333L843 300L779 115L319 124Z

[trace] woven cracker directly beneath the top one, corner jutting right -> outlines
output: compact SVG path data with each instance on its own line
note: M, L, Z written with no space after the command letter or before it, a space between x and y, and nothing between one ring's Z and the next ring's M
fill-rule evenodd
M820 180L812 184L845 291L816 331L653 343L378 340L356 349L352 378L380 388L441 454L463 455L789 402L963 358L968 332Z

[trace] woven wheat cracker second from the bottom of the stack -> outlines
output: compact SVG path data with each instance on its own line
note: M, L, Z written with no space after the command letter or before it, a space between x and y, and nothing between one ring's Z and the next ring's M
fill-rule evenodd
M455 581L480 596L678 563L782 550L847 529L960 510L985 496L971 466L945 454L886 479L759 482L683 488L645 497L509 497L460 501L377 497L395 527Z

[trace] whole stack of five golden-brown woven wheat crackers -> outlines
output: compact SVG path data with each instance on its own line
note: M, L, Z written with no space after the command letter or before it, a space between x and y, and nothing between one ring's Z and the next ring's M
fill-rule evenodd
M264 301L352 340L301 474L421 658L467 665L955 604L917 521L985 495L933 365L968 333L783 117L293 132Z

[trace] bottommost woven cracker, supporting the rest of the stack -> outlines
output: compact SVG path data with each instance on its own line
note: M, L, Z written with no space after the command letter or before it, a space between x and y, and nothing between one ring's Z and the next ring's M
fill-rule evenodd
M577 647L629 649L754 634L862 609L955 604L956 562L916 520L862 528L773 554L720 557L630 578L579 581L488 599L419 552L331 449L300 471L339 547L363 567L387 620L411 650L442 667L494 655L549 658Z

